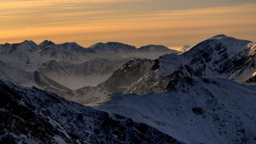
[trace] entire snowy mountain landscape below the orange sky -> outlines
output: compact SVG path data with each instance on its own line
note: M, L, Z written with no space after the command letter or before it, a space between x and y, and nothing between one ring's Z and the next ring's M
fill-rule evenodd
M226 35L182 52L1 44L0 142L255 143L255 53Z

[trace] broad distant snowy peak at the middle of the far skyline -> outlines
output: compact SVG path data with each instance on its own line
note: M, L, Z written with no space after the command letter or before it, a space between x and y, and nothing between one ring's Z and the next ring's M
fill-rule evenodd
M94 50L95 52L133 52L136 51L135 46L117 43L117 42L107 42L107 43L97 43L89 47L90 49Z

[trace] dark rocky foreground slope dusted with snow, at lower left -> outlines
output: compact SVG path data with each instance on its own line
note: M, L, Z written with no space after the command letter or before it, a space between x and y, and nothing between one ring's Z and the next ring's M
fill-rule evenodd
M0 143L181 143L143 123L0 80Z

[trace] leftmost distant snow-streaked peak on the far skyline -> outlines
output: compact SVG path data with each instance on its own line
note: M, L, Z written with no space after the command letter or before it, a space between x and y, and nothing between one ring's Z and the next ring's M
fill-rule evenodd
M36 52L39 50L41 50L40 47L33 41L24 41L22 43L14 44L0 44L0 53L12 53L14 51Z

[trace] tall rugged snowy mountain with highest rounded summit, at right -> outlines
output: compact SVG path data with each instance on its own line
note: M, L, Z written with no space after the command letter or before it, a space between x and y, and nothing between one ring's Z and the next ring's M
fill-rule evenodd
M185 76L228 78L239 83L256 71L256 43L217 35L179 54L166 54L127 93L161 92L170 80Z

